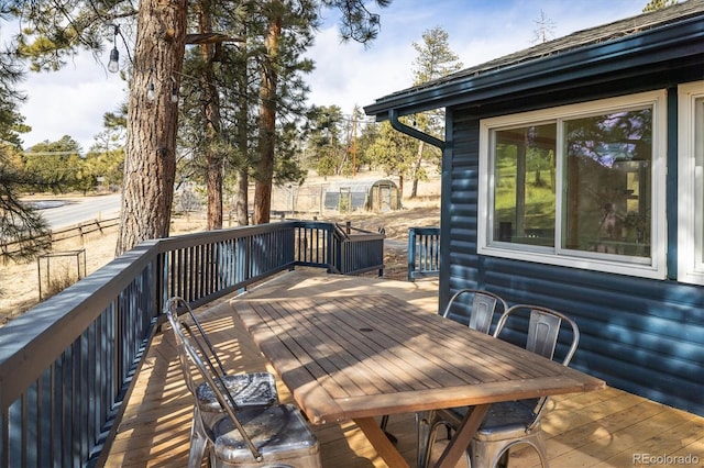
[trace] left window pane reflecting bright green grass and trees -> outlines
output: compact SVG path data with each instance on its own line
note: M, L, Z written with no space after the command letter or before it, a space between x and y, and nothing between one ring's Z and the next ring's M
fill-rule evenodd
M554 246L554 123L495 133L494 238Z

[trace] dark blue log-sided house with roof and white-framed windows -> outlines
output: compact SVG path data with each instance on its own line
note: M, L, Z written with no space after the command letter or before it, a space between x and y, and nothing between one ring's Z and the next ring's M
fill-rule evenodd
M562 311L574 367L704 415L703 70L689 0L365 107L443 151L440 310L479 288ZM443 141L398 120L438 108Z

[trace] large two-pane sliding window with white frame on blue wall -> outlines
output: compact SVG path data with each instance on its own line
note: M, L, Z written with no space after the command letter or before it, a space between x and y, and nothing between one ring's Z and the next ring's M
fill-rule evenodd
M480 253L664 277L664 156L663 92L482 121Z

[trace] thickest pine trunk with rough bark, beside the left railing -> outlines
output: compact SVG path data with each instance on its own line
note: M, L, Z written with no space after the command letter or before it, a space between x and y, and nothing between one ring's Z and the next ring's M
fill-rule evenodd
M140 2L116 255L168 236L178 124L178 103L170 97L172 86L180 83L186 5L186 0Z

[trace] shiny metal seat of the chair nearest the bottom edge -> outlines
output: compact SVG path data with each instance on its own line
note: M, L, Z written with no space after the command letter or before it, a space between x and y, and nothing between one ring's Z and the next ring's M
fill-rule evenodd
M319 446L305 417L297 408L279 404L261 410L238 411L237 417L262 460L252 458L244 437L230 417L213 426L211 460L217 467L318 467Z

